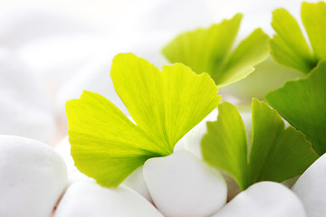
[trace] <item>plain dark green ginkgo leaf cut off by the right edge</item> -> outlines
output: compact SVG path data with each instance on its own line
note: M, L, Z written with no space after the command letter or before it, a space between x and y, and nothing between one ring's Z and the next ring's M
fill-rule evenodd
M319 155L326 152L326 61L304 79L292 80L265 96L283 118L312 142Z

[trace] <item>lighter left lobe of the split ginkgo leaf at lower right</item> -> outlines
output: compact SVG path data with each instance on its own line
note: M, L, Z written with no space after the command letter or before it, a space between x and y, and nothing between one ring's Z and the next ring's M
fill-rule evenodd
M202 153L206 162L226 171L245 189L248 185L245 124L231 103L222 102L218 106L217 121L207 122Z

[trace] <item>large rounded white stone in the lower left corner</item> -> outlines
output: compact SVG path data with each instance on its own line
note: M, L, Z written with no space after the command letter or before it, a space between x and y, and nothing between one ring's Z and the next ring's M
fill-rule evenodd
M66 182L64 161L51 146L0 136L0 216L50 216Z

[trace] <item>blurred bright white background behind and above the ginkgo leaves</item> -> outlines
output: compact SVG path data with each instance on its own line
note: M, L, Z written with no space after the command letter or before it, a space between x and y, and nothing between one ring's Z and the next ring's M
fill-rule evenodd
M299 18L301 4L302 0L0 0L0 134L54 145L67 135L65 102L79 98L82 90L100 93L128 114L110 80L110 62L117 53L134 52L161 67L168 61L160 50L178 33L242 13L237 41L258 27L273 35L273 9L286 8ZM35 91L24 91L36 86ZM233 94L232 87L227 91ZM249 99L252 92L245 94Z

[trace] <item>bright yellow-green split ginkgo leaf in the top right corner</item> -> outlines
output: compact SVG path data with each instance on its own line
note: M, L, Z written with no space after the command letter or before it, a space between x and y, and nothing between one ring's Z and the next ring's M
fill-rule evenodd
M284 66L307 74L318 61L326 59L326 4L302 3L302 23L312 49L292 15L284 9L275 10L272 26L276 34L271 40L271 54Z

